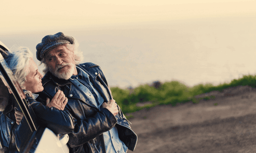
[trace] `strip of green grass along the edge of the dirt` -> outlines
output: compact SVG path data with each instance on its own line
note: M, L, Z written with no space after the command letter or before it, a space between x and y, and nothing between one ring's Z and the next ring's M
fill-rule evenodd
M152 85L140 85L133 89L120 89L118 87L111 87L110 89L115 101L121 107L123 113L126 114L156 105L176 106L177 103L197 103L201 99L214 99L215 97L213 96L204 98L195 98L195 96L211 91L222 91L223 89L239 85L256 87L256 76L247 75L237 80L234 79L230 83L216 86L212 84L199 84L193 87L187 87L178 81L164 82L163 84L155 81ZM137 103L141 102L149 103L145 106L137 106Z

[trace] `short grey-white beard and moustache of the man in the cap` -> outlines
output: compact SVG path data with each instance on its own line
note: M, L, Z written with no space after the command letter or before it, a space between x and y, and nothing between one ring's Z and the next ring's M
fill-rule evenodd
M64 67L65 65L70 65L71 68L69 69L69 71L68 71L68 72L62 72L62 73L58 72L58 69ZM68 80L68 79L73 75L73 72L74 72L74 70L75 70L74 68L75 68L75 64L68 64L68 63L65 63L65 64L62 64L62 65L58 65L58 66L55 68L55 70L52 70L52 68L50 68L49 71L50 71L54 76L56 76L56 77L59 78L59 79Z

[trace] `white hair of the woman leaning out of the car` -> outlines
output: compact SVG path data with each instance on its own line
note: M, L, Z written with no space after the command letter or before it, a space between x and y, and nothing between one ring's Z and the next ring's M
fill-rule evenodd
M10 52L5 59L22 89L26 89L24 83L29 73L29 59L33 59L33 54L26 47L19 47L17 51Z

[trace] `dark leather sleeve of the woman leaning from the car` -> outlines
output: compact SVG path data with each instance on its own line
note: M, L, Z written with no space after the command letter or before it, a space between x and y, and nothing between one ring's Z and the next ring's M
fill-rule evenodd
M55 134L67 134L74 130L74 121L66 111L49 108L32 98L27 99L35 112L38 125L48 127Z

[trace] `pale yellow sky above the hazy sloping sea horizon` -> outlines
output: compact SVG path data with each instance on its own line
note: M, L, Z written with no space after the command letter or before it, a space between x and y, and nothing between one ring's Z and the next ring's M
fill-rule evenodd
M0 33L255 14L255 4L255 0L1 0Z

